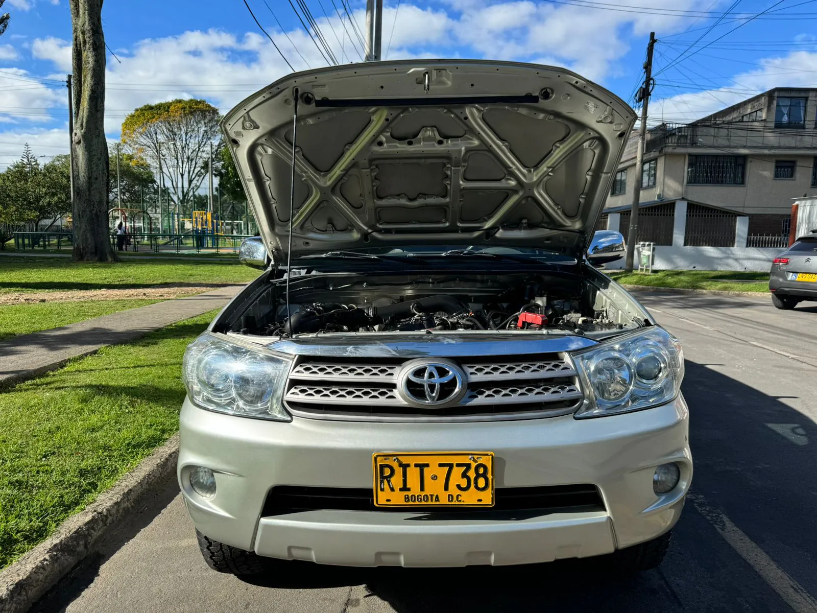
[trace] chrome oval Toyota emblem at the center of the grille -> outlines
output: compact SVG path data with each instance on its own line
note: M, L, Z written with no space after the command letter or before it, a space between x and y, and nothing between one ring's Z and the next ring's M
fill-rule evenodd
M398 375L397 393L409 405L451 405L465 393L465 374L448 360L412 360Z

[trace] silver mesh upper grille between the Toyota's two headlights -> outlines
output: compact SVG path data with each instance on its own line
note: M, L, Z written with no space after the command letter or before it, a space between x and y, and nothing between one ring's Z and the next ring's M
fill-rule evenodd
M289 410L303 417L433 421L547 417L570 413L583 399L569 358L539 354L454 359L465 391L449 403L418 405L407 401L398 389L408 361L391 358L375 364L362 359L305 357L289 374L284 401ZM415 391L422 389L417 383L410 386Z

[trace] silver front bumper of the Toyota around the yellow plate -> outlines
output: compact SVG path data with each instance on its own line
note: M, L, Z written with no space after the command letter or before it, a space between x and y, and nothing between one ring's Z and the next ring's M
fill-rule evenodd
M263 556L346 566L549 562L611 553L672 528L692 478L688 419L682 396L604 418L494 423L265 422L185 400L178 477L203 534ZM263 517L275 485L372 487L373 452L391 450L491 450L498 489L593 484L605 508L505 519L340 510ZM656 495L654 468L667 462L681 467L681 483ZM190 488L191 466L216 472L214 497Z

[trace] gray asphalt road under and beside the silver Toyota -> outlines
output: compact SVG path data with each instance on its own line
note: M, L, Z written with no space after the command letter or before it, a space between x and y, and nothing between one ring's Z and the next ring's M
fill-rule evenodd
M692 415L694 494L659 570L620 580L592 561L454 570L286 562L238 579L204 565L168 484L33 611L817 612L817 306L640 298L684 343Z

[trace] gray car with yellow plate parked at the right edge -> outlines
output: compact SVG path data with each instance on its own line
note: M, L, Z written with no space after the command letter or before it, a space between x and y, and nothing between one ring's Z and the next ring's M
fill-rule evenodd
M803 300L817 300L817 234L801 236L771 265L771 302L793 309Z

